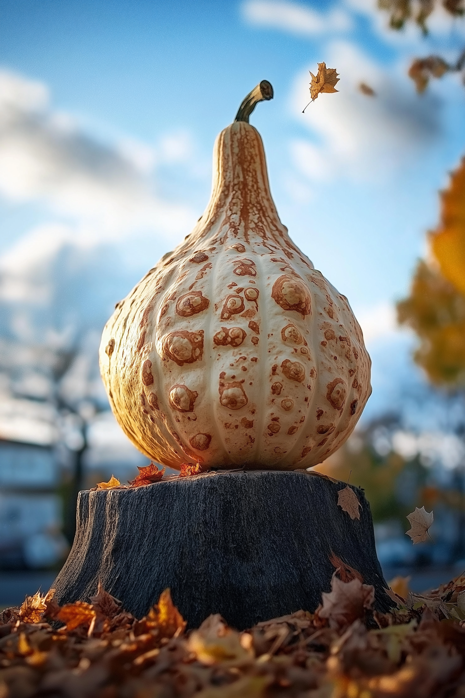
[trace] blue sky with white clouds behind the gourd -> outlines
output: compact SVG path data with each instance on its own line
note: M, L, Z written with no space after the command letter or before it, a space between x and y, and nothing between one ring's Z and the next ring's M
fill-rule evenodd
M251 122L277 209L349 298L379 376L371 403L386 403L389 373L411 371L393 303L436 225L437 191L465 153L459 79L417 96L406 70L413 56L454 58L465 24L439 13L426 39L386 25L375 0L4 0L1 331L26 339L55 323L64 332L73 313L88 313L98 332L190 232L208 201L215 136L266 79L275 98ZM318 61L337 68L340 92L301 114ZM65 248L71 272L57 261ZM67 290L61 279L59 293L57 265L75 283Z

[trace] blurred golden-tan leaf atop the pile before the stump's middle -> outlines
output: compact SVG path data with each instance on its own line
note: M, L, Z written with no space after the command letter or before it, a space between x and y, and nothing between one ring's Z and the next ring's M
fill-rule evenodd
M241 664L253 659L252 649L241 644L241 634L228 628L220 614L208 616L188 639L191 652L202 664Z

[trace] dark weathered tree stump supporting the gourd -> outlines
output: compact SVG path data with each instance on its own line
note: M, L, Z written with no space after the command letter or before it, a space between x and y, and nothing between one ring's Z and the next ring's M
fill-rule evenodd
M171 589L190 628L212 613L239 630L305 609L330 591L335 554L391 606L369 504L337 506L344 482L303 470L221 471L135 489L79 493L73 548L54 582L59 604L88 601L99 579L137 618Z

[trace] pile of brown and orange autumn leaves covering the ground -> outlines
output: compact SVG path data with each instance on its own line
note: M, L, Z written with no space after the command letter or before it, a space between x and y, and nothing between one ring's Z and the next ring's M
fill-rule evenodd
M421 595L397 578L381 614L331 560L314 613L245 632L218 614L186 630L169 589L140 620L101 586L63 607L26 597L0 614L0 698L464 698L465 575Z

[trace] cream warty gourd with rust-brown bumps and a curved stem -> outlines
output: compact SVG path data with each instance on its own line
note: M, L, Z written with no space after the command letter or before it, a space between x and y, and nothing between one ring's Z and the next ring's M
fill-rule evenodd
M218 135L194 230L116 304L100 370L116 419L171 468L293 470L353 431L370 359L347 299L291 241L248 118L262 81Z

